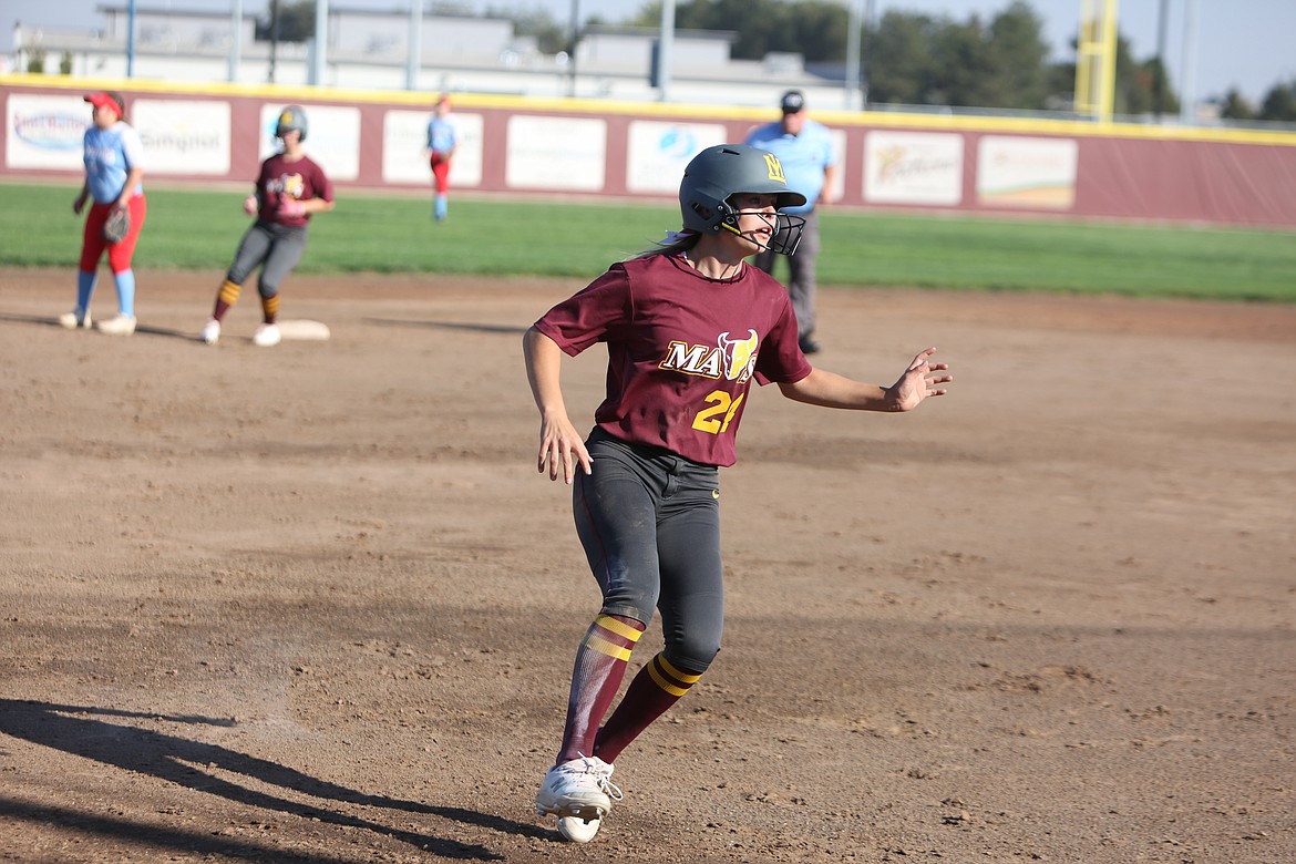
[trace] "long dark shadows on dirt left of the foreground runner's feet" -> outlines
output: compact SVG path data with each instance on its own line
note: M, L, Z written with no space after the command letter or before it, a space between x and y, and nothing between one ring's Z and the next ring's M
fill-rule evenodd
M228 747L191 741L174 734L143 729L136 725L109 723L100 718L122 718L183 725L235 725L232 720L219 718L163 716L115 709L0 699L0 732L14 738L23 738L45 747L93 759L132 773L157 777L158 780L184 786L185 789L218 795L249 807L259 807L332 825L384 834L442 858L485 861L503 860L502 855L483 846L400 830L368 819L338 812L325 806L289 801L276 794L258 791L235 779L224 779L218 775L241 775L258 785L277 786L285 791L310 795L325 802L426 813L505 834L537 838L550 837L548 832L535 825L515 823L491 813L460 807L438 807L382 795L368 795L354 789L347 789L346 786L318 780L275 762L267 762L236 750L229 750ZM303 864L329 864L349 860L330 855L303 854L267 847L242 839L219 837L210 832L175 830L124 819L110 819L76 812L62 807L31 804L5 795L0 795L0 813L35 823L65 825L101 837L115 837L122 841L146 843L168 850L220 854L232 858L259 860L301 861Z

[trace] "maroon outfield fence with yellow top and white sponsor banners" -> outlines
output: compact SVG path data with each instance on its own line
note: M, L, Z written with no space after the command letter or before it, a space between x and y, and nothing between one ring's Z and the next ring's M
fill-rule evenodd
M0 176L82 171L83 95L115 89L150 183L251 183L286 104L340 187L428 189L437 93L0 76ZM700 149L745 139L750 108L456 95L459 192L669 201ZM1296 229L1296 132L892 111L815 111L833 131L842 206Z

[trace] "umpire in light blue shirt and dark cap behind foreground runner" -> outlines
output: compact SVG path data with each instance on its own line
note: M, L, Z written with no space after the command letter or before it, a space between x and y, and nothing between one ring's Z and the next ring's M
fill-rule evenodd
M789 89L779 101L783 119L754 128L746 144L769 150L779 157L788 179L788 188L806 197L802 207L784 207L784 212L805 216L801 245L788 256L788 295L797 316L801 351L814 354L819 343L814 339L815 325L815 258L819 255L819 214L816 205L832 202L833 181L837 176L837 157L833 153L832 133L823 123L806 117L806 100L801 91ZM766 273L774 272L778 255L769 250L756 256L756 266Z

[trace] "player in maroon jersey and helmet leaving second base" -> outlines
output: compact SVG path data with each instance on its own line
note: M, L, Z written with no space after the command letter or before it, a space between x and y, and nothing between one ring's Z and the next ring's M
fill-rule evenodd
M306 251L311 214L333 209L333 184L324 168L302 149L306 140L306 111L289 105L279 115L275 136L283 150L260 163L257 190L244 201L244 211L257 222L244 234L226 281L216 294L216 308L202 328L202 341L215 345L226 312L238 302L244 280L260 267L257 290L260 294L263 323L253 342L262 347L279 345L279 284L293 272Z

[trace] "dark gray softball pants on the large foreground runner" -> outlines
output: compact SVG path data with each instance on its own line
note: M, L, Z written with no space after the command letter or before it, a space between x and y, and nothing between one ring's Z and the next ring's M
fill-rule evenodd
M586 447L573 510L603 613L647 626L657 609L666 659L705 672L724 626L719 472L597 429Z

